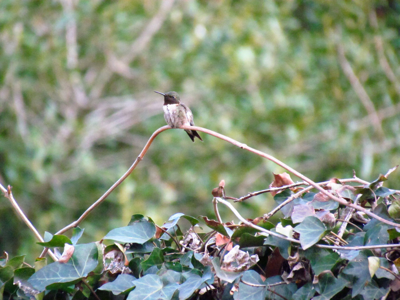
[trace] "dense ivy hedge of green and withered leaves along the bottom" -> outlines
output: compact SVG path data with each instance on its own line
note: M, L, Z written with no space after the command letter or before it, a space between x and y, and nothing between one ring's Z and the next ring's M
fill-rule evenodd
M386 179L381 175L358 187L333 179L324 188L397 223L400 191L384 188ZM279 174L275 186L279 180L288 178ZM290 179L286 183L295 185ZM292 197L294 192L301 197ZM213 195L214 207L230 198L225 196L223 182ZM286 201L290 197L293 200ZM71 238L46 232L44 242L38 244L64 247L60 259L47 264L46 258L38 258L30 266L24 256L10 259L4 252L0 299L400 297L398 227L307 189L288 188L274 199L278 204L288 202L280 208L285 218L278 224L267 221L268 215L233 224L178 213L157 226L135 214L128 226L111 230L100 242L78 244L83 233L79 227ZM216 214L219 218L218 210ZM199 226L203 223L212 230L204 232ZM190 228L182 232L182 225Z

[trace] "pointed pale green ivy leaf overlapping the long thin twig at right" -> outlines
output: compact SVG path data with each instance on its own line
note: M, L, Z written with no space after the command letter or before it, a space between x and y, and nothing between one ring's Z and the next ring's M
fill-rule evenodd
M316 244L328 231L324 223L314 216L306 217L293 230L300 233L300 244L303 250Z

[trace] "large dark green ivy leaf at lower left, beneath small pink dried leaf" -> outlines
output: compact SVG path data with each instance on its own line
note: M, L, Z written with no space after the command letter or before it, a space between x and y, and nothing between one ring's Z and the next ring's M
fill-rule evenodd
M42 292L46 286L59 282L73 282L96 268L98 251L95 243L76 245L74 254L65 264L53 262L33 274L28 282Z

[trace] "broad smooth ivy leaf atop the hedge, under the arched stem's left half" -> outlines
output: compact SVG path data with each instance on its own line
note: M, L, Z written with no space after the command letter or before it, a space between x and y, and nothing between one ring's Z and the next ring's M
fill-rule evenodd
M115 240L122 243L143 244L156 233L156 226L151 222L134 222L132 225L115 228L104 236L103 240Z

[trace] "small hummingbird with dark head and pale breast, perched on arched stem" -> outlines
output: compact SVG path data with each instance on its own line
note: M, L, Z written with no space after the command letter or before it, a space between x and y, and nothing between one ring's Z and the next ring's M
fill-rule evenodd
M180 97L177 92L160 93L164 96L164 119L169 126L172 128L179 128L182 125L194 126L193 114L190 108L180 102ZM199 136L196 130L185 129L188 136L194 142L194 137L198 137L201 141L202 138Z

